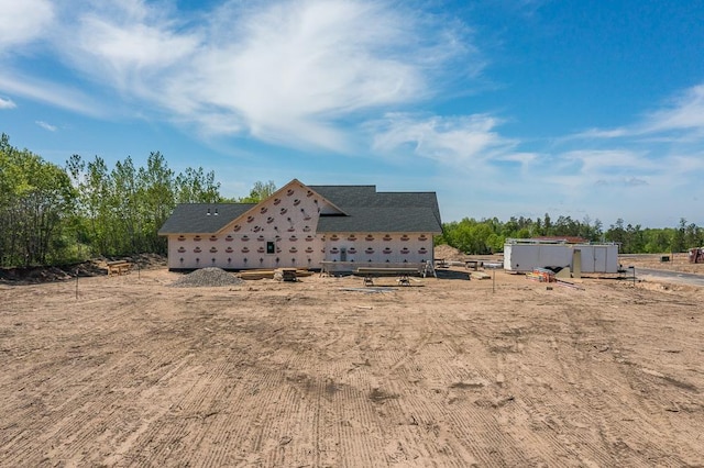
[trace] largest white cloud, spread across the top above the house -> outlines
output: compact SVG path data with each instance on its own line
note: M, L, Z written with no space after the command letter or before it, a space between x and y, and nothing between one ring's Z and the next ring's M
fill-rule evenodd
M433 97L442 65L469 75L483 66L461 25L386 0L229 1L182 21L168 13L139 0L96 2L54 37L95 83L205 133L337 151L349 148L340 121Z

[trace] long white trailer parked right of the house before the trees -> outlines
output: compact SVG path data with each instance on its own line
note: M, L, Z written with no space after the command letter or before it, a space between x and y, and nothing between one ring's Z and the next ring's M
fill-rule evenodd
M618 244L566 244L532 239L507 239L504 269L526 272L560 267L585 274L618 272Z

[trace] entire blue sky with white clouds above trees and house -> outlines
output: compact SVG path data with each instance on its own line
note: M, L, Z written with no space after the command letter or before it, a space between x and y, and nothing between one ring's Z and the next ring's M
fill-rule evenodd
M704 2L0 0L0 132L213 170L227 197L373 183L443 221L704 225Z

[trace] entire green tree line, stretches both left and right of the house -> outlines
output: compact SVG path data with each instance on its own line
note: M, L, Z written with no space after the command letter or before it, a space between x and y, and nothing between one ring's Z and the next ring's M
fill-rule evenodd
M158 229L177 203L255 203L276 191L273 181L255 182L248 197L220 193L213 171L202 167L176 174L158 152L145 166L131 157L108 167L103 158L50 163L0 136L0 267L61 265L92 257L166 254ZM496 218L443 224L436 243L468 254L502 252L506 238L581 236L616 242L623 253L683 252L704 245L704 230L681 220L671 229L642 229L617 220L606 231L598 220Z

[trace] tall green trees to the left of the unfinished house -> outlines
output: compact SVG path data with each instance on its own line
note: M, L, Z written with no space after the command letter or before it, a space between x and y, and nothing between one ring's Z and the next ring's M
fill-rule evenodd
M73 155L64 167L0 136L0 267L59 265L90 257L166 254L158 229L177 203L256 202L276 190L256 182L248 197L220 193L213 171L176 174L158 152L131 157Z

